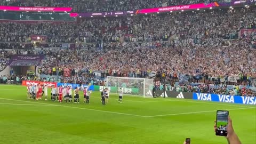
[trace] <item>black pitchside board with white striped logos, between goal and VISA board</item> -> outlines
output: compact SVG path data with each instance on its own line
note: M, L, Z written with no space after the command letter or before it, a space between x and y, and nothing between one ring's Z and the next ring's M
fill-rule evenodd
M156 96L168 97L168 98L178 98L178 99L193 99L193 93L191 92L176 92L176 91L163 91L156 90Z

